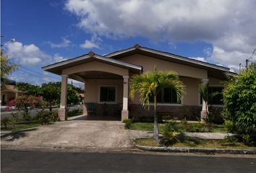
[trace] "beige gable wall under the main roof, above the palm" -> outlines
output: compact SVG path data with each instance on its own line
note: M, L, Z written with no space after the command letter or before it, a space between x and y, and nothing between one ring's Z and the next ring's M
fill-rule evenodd
M139 66L143 66L143 71L152 71L154 66L158 70L172 70L176 71L179 76L188 76L198 79L205 79L208 73L204 69L195 68L192 66L186 66L179 63L171 63L169 61L164 61L159 58L152 58L149 56L143 56L140 54L135 54L132 56L127 56L120 59L121 61L126 61L128 63L133 63Z

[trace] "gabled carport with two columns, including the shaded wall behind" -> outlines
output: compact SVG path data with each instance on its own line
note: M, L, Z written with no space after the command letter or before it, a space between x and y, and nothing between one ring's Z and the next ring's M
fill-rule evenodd
M141 66L98 56L92 52L43 69L61 75L60 120L67 120L68 78L85 84L83 115L95 120L128 118L129 76L142 71Z

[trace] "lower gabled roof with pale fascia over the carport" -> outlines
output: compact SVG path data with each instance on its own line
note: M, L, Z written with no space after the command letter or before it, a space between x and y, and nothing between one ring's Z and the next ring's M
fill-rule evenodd
M91 62L91 61L100 61L100 62L108 63L108 64L111 64L111 65L114 65L114 66L119 66L121 68L127 68L127 69L129 69L133 72L139 72L139 73L142 72L142 66L137 66L137 65L132 64L132 63L127 63L127 62L124 62L124 61L115 60L113 58L106 58L104 56L99 56L99 55L93 53L92 51L90 51L90 53L85 54L83 56L78 56L77 58L71 58L67 61L61 61L61 62L58 62L58 63L53 63L53 64L50 64L48 66L43 66L42 68L43 68L43 70L49 71L53 74L61 75L61 71L64 68L77 66L77 65L80 65L81 63L88 63L88 62Z

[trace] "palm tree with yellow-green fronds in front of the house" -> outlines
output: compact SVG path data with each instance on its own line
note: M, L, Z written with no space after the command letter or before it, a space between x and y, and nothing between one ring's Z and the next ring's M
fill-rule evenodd
M177 99L181 99L184 94L184 84L179 81L179 76L174 71L156 71L153 73L137 74L132 76L130 82L130 97L134 98L137 93L140 94L142 106L150 105L150 98L154 102L154 134L153 138L158 141L158 117L156 113L156 98L165 88L172 88L177 94Z

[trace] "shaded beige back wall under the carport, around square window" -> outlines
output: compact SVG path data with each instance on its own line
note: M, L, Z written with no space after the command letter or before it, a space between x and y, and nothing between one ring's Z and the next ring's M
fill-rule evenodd
M116 86L116 103L123 102L123 79L85 80L85 102L99 102L100 86Z

